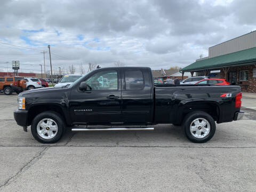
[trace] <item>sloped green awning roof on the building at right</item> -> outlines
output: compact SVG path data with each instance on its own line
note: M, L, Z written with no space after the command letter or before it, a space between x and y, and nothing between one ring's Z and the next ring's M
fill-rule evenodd
M251 65L256 63L256 47L237 51L218 57L203 59L192 63L180 71L198 71L204 69L217 69L221 67L232 67L240 65Z

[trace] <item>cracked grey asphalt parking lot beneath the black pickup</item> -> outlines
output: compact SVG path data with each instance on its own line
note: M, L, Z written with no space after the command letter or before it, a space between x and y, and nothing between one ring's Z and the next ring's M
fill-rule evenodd
M203 144L156 125L43 145L15 123L17 94L0 93L0 191L256 191L256 98L243 102L244 120L217 124Z

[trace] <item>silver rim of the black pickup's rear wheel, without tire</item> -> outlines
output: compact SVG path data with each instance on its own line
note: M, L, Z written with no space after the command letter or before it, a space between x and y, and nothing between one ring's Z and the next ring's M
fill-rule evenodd
M196 118L190 124L190 133L198 139L206 137L211 130L210 123L205 118Z

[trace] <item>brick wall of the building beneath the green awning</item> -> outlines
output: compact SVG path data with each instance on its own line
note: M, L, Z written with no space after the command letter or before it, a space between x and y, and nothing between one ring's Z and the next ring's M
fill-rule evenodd
M229 72L234 71L236 73L236 85L240 85L243 92L256 93L256 77L253 76L253 68L256 68L255 65L248 66L238 66L238 67L230 67L227 73L227 77L225 77L225 73L223 69L220 70L221 78L225 78L228 80ZM248 81L240 81L240 71L248 70Z

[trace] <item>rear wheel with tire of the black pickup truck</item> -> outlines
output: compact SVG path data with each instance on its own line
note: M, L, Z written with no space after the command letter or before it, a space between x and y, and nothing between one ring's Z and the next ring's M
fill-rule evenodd
M187 114L182 126L186 137L195 143L209 141L216 130L214 119L204 111L194 111Z

